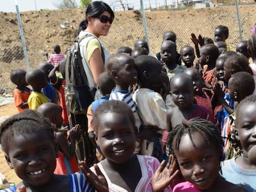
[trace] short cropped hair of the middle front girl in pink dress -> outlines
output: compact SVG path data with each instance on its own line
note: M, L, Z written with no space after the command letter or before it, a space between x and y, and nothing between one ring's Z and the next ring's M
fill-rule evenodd
M130 122L132 122L132 126L135 129L134 113L132 112L130 106L128 106L126 102L123 101L109 100L103 102L103 104L100 104L100 106L98 106L95 113L93 114L93 127L95 128L96 134L98 133L101 115L106 114L108 112L128 115Z

